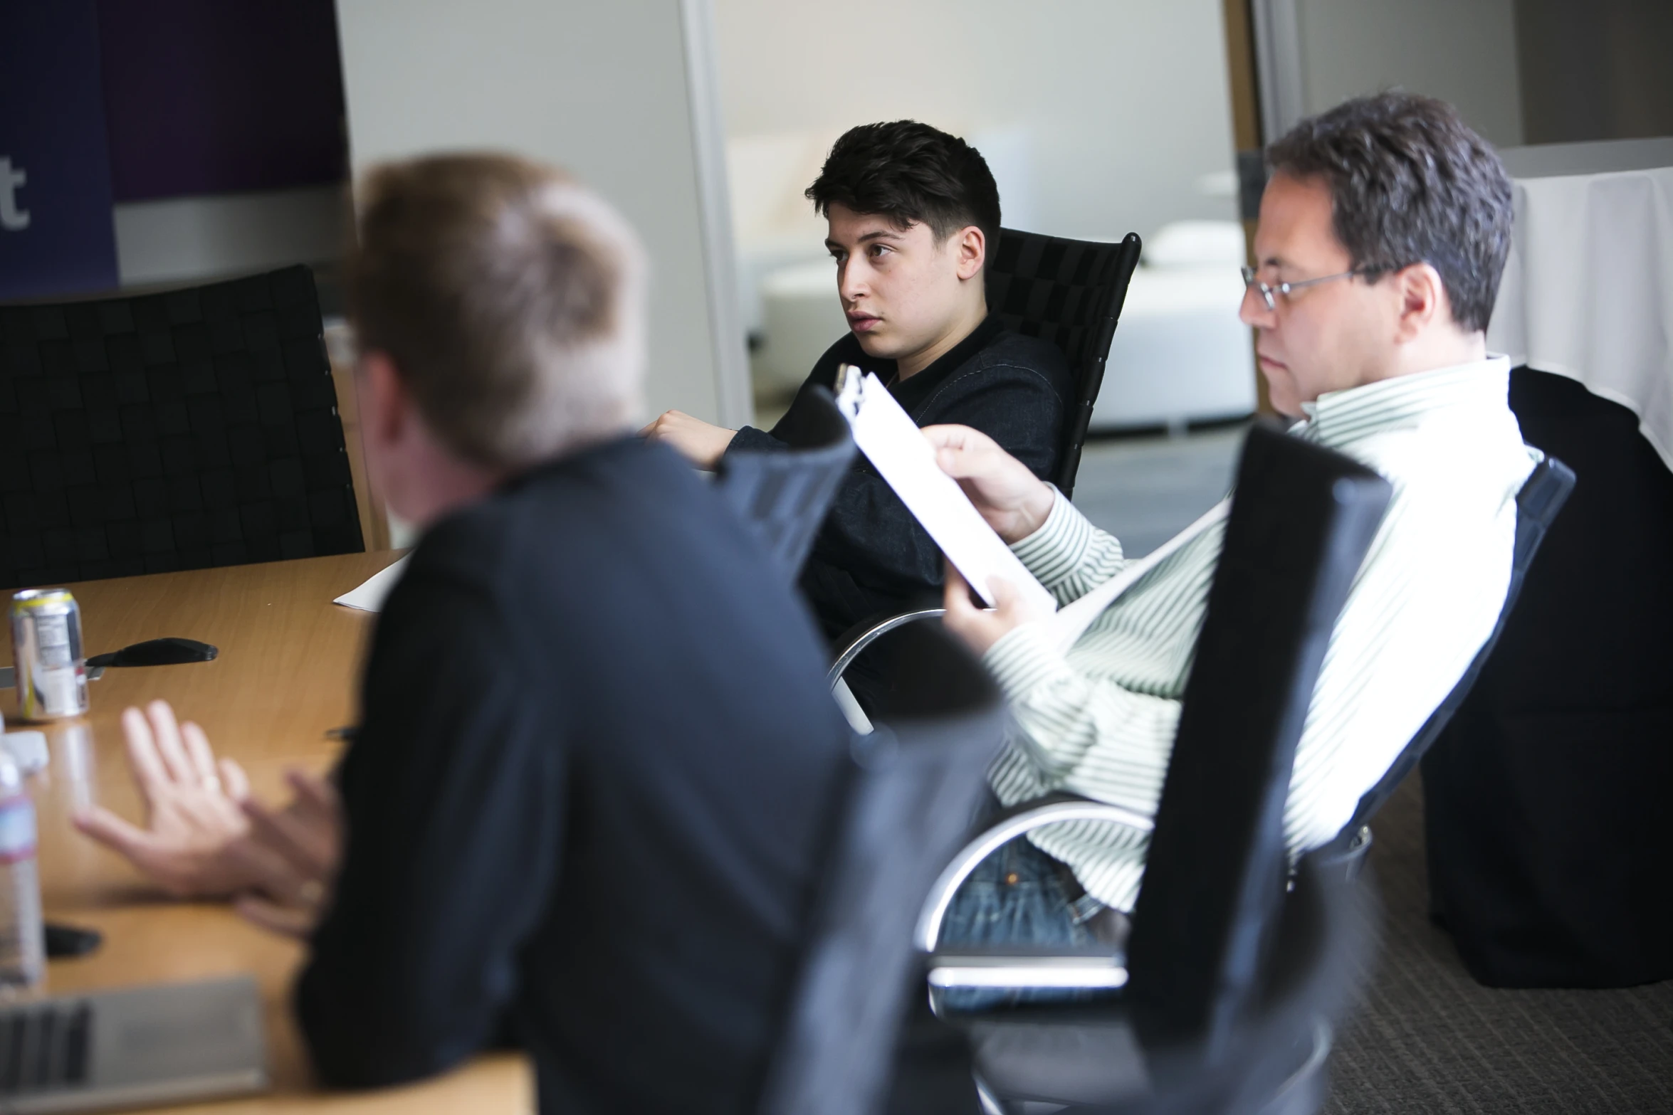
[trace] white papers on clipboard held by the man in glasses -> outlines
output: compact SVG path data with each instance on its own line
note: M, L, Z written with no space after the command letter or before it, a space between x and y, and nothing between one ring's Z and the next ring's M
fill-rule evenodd
M987 578L1004 577L1032 608L1056 612L1052 595L982 520L959 481L935 463L935 448L888 388L852 364L843 364L836 374L836 406L853 428L853 443L977 595L994 603Z

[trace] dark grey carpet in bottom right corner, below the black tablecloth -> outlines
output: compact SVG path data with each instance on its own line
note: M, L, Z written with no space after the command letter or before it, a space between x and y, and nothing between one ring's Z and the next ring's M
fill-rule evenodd
M1332 1060L1328 1115L1673 1112L1673 981L1484 988L1425 913L1417 777L1372 831L1384 941Z

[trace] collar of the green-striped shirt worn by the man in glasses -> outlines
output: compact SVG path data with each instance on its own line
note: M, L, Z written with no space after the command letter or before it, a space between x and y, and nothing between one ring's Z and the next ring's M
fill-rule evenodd
M1442 408L1504 410L1509 391L1509 358L1489 353L1467 364L1327 391L1317 403L1302 403L1307 415L1302 433L1320 445L1342 446L1369 433L1415 425Z

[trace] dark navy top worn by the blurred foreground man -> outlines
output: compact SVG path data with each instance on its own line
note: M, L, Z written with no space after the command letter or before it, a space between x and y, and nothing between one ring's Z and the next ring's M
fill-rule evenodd
M321 1078L504 1025L542 1112L741 1112L791 993L848 729L793 590L664 446L433 527L378 617L348 849L296 1010Z

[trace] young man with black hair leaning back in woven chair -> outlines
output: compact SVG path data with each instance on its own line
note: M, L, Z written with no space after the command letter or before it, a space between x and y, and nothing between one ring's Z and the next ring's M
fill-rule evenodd
M731 431L669 411L644 430L699 468L733 450L771 451L805 421L813 386L840 364L875 371L920 426L980 430L1027 470L1054 475L1072 384L1062 351L987 313L984 269L999 242L999 189L982 155L927 124L848 130L806 191L825 216L850 333L820 358L771 431ZM828 637L898 612L942 583L940 550L863 458L813 545L801 587ZM862 667L863 669L863 667ZM857 672L852 680L865 685Z

